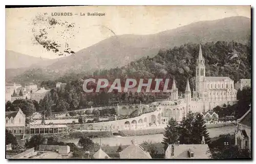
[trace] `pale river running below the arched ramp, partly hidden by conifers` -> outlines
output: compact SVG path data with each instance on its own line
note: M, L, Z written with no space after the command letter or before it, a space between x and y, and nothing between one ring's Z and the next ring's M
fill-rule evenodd
M207 129L209 132L209 137L214 138L219 136L220 134L232 134L236 130L236 126L225 126L218 128L210 128ZM114 136L111 138L94 138L92 139L95 143L100 143L101 145L109 145L109 146L118 146L120 143L122 145L130 145L132 139L136 139L138 144L142 144L143 141L150 141L153 143L159 143L163 140L163 134L150 134L150 135L139 135L139 136ZM66 140L61 139L60 141L65 143L75 143L77 144L79 139Z

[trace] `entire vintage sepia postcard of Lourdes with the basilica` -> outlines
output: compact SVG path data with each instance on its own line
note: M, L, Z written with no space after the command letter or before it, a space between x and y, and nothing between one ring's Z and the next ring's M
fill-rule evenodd
M251 159L250 6L6 8L7 159Z

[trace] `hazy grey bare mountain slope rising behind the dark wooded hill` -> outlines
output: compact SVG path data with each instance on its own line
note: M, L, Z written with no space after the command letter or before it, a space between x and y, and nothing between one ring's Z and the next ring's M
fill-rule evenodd
M129 60L125 60L126 56L130 57L130 62L147 56L152 58L160 49L166 50L185 43L235 41L246 44L250 38L250 26L249 18L237 16L196 22L153 35L113 36L38 70L42 72L40 80L54 79L67 73L121 67L129 63ZM15 80L35 79L30 76L30 72L28 70L16 76Z

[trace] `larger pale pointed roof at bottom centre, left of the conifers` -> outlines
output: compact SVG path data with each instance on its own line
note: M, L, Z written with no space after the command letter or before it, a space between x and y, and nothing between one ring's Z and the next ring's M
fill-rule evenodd
M132 145L119 152L120 159L152 159L150 153L132 140Z

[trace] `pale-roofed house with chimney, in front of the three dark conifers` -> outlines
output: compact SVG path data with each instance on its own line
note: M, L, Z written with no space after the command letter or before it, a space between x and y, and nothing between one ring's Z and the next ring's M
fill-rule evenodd
M165 159L209 159L210 156L210 149L205 144L204 137L202 144L168 145L165 150Z

